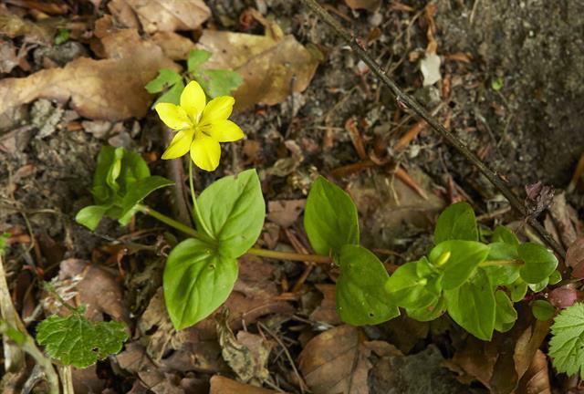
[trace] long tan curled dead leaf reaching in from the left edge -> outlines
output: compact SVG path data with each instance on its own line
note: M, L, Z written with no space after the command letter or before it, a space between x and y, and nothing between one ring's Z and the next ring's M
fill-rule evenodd
M152 97L144 85L156 77L160 68L178 66L163 55L160 47L141 40L135 30L112 36L104 47L116 58L78 58L62 68L0 81L0 113L47 98L70 99L71 107L90 119L121 120L146 115Z

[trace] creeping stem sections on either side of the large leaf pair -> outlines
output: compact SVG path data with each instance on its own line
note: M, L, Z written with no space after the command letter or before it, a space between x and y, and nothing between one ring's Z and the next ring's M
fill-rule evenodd
M200 239L203 242L209 243L209 244L214 244L216 245L217 242L210 238L209 236L203 234L203 233L199 233L198 231L194 230L193 228L175 221L174 219L166 216L163 213L159 213L158 211L154 211L153 209L151 209L151 207L148 207L146 205L138 205L138 210L141 213L146 213L151 215L151 217L153 217L154 219L167 224L173 228L175 228L176 230L185 233L189 236L192 236L193 238L197 238ZM297 254L297 253L288 253L288 252L277 252L277 251L271 251L271 250L266 250L266 249L260 249L260 248L250 248L246 254L255 254L257 256L260 257L266 257L266 258L273 258L273 259L280 259L280 260L293 260L293 261L302 261L302 262L311 262L311 263L319 263L319 264L330 264L332 263L332 258L328 257L328 256L321 256L318 254Z

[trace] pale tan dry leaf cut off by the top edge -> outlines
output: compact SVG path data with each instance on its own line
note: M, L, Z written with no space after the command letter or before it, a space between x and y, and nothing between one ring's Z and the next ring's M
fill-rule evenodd
M112 15L132 23L129 6L147 33L194 30L211 16L203 0L121 0L113 3L110 6Z

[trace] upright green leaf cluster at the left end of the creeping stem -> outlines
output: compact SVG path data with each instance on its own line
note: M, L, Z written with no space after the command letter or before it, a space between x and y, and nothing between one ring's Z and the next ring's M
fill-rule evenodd
M126 225L146 196L172 184L161 176L151 176L146 161L138 153L104 146L93 175L91 193L95 204L79 211L75 220L92 231L104 215Z

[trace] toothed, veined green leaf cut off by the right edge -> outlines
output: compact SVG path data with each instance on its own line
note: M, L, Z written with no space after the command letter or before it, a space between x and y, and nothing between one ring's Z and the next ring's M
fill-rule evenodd
M551 327L548 355L558 372L584 378L584 304L562 310Z

